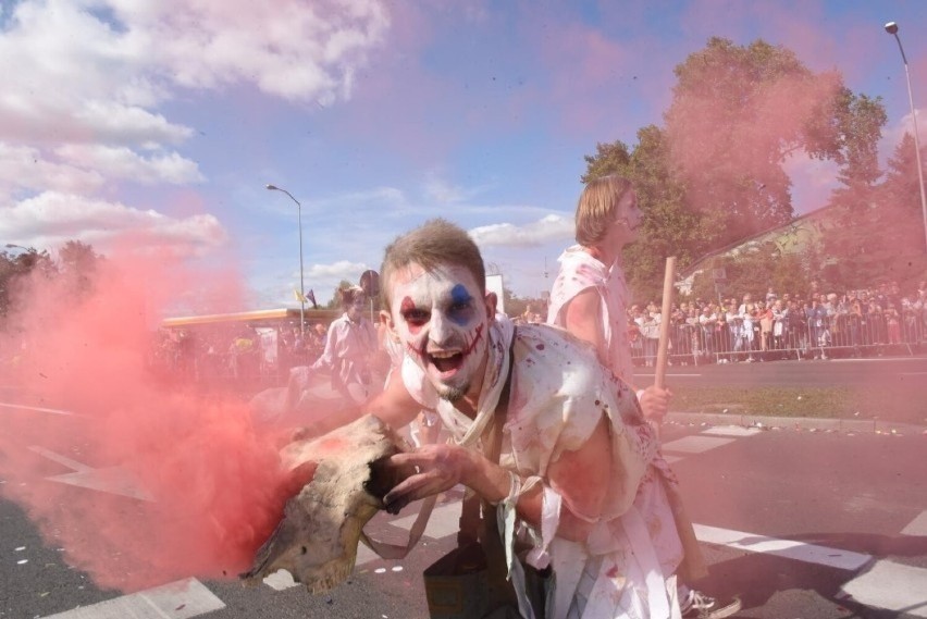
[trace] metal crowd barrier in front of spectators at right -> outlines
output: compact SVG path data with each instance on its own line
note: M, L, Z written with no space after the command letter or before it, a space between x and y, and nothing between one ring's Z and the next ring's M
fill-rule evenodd
M804 319L772 321L766 329L758 320L714 327L672 324L669 342L668 358L673 364L870 358L927 350L927 329L916 314L898 319L838 314L819 324L808 324ZM653 366L656 348L655 337L631 337L632 358L639 366Z

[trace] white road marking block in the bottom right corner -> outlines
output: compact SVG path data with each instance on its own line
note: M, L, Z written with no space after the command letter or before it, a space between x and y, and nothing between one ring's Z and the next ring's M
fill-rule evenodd
M927 569L877 561L841 587L860 604L927 617Z

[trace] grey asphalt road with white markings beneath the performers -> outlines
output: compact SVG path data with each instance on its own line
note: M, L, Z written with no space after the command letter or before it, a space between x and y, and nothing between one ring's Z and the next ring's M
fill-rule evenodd
M310 595L285 578L249 589L232 578L183 579L132 595L98 589L66 565L53 534L39 536L4 488L61 486L62 510L87 493L126 513L137 499L107 483L62 481L69 469L40 449L42 430L79 420L3 401L0 423L3 416L34 416L36 430L0 450L0 618L427 616L421 572L454 544L456 493L436 509L409 557L385 561L363 550L351 579L326 595ZM693 584L740 595L739 617L927 617L927 434L669 423L663 440L712 564L709 577ZM4 469L22 456L17 449L36 461L28 479ZM114 462L88 465L101 470ZM399 542L411 513L380 515L369 532Z

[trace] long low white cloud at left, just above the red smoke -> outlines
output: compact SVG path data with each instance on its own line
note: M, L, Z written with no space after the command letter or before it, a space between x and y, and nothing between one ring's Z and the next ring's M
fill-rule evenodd
M106 253L111 244L126 235L133 235L139 249L170 248L182 256L200 256L227 239L219 220L210 214L176 219L120 202L53 191L0 208L0 238L17 245L50 248L82 240Z

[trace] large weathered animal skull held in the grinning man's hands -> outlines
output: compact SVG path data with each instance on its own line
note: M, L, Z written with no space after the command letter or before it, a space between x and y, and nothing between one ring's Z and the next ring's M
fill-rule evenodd
M240 575L245 583L257 584L280 569L313 594L344 582L354 570L363 525L383 509L383 495L398 483L380 462L404 448L390 426L372 416L286 446L282 456L287 470L307 462L319 466L286 503L276 530Z

